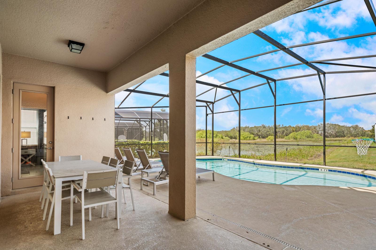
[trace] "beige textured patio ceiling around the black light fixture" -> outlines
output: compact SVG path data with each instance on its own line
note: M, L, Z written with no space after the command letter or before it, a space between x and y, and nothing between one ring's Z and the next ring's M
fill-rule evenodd
M3 52L109 71L202 0L3 0ZM81 54L68 40L85 43Z

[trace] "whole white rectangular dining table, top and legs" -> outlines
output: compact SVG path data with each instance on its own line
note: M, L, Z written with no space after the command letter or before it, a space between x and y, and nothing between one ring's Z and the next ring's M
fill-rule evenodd
M73 181L82 179L84 171L99 171L114 169L114 167L107 166L92 160L76 160L76 161L50 161L46 162L51 169L52 175L55 177L55 212L53 234L61 232L61 191L63 181ZM121 178L120 187L123 185L123 178ZM117 197L121 197L121 188L117 188ZM117 202L116 216L121 218L121 202ZM119 212L118 212L119 211Z

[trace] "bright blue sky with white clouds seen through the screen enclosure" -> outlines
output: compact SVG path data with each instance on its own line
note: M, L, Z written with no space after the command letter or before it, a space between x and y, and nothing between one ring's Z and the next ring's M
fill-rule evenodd
M302 44L325 39L351 36L361 33L375 32L368 10L363 0L343 0L327 6L291 15L276 23L261 29L262 32L275 40L288 45ZM376 54L376 36L347 39L325 44L309 45L293 48L292 50L306 60L334 59L340 57L364 56ZM254 54L275 49L272 45L254 34L249 34L226 44L208 54L224 60L232 61ZM374 66L375 58L352 59L335 61L337 63ZM236 64L253 71L275 68L278 66L298 63L296 59L288 56L283 51L277 51L264 56L255 57ZM220 64L209 59L198 57L196 60L196 74L201 75ZM362 68L315 64L324 71L345 71ZM297 75L314 74L311 68L305 65L262 72L262 74L275 79ZM245 75L245 72L223 66L198 80L220 84ZM327 74L326 97L338 97L376 92L376 72L352 74ZM264 83L262 78L250 75L226 84L235 89L244 89L259 83ZM133 88L133 87L132 87ZM197 94L209 87L197 84ZM156 76L147 80L138 87L138 90L168 93L168 77ZM198 99L213 100L215 90L211 90ZM227 90L217 90L216 99L228 95ZM115 96L115 105L127 95L126 92ZM294 80L277 81L277 104L321 99L322 92L318 77L297 78ZM121 107L150 106L160 99L159 96L146 96L132 93ZM202 105L197 103L198 105ZM158 103L168 106L168 98ZM252 108L273 105L273 96L267 85L256 87L241 92L241 107ZM236 110L237 104L229 97L215 104L215 112ZM168 109L167 109L168 110ZM277 107L277 124L315 125L322 122L323 103L309 102ZM210 118L210 117L209 117ZM209 119L210 120L210 119ZM215 130L228 130L237 126L238 112L215 114ZM358 124L365 129L370 129L376 122L376 96L361 96L343 99L334 99L326 102L327 122L344 125ZM210 122L208 123L210 125ZM241 112L241 125L273 125L273 108L262 108ZM205 108L197 108L196 127L205 128Z

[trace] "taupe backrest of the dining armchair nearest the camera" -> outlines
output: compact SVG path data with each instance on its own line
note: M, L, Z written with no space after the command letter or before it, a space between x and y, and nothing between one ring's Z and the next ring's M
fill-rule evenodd
M82 188L101 188L117 184L121 169L109 169L100 171L84 171Z

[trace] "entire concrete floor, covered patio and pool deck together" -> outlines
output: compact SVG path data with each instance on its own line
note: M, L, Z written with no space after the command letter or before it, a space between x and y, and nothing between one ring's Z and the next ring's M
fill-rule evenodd
M54 236L53 224L44 230L38 192L3 197L1 249L376 249L372 188L264 184L216 173L216 181L197 178L197 217L180 221L167 214L168 184L158 185L156 196L152 186L140 190L139 176L132 184L136 211L123 206L120 230L114 206L109 218L93 209L87 221L86 212L84 241L79 205L70 227L63 201L62 234Z

